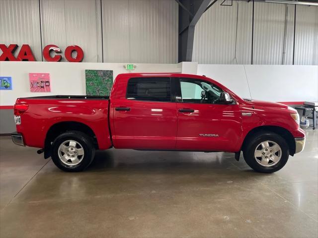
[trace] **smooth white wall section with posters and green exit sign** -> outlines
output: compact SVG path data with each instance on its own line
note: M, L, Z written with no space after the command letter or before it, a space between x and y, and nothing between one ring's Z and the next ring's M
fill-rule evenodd
M0 76L12 77L12 90L0 90L0 106L15 103L17 97L42 95L85 95L85 70L112 70L114 79L122 73L180 73L179 64L134 64L127 71L124 63L68 63L68 62L0 62ZM30 92L29 73L50 73L51 92Z

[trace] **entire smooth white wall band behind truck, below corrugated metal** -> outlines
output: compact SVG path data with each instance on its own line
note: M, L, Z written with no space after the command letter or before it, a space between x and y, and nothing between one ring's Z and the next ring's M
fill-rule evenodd
M0 90L0 105L13 105L17 97L85 94L85 69L129 73L124 63L0 62L0 76L11 76L13 90ZM241 97L268 101L318 101L318 66L135 64L132 72L182 72L205 75ZM246 72L246 74L245 74ZM29 91L28 73L50 73L51 93ZM249 86L249 89L248 89Z

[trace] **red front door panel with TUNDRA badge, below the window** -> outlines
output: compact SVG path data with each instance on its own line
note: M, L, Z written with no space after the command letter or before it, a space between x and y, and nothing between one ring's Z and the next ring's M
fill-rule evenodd
M240 147L237 140L242 135L239 105L178 103L178 108L194 108L193 113L178 115L178 150L236 151ZM218 135L198 137L199 134Z

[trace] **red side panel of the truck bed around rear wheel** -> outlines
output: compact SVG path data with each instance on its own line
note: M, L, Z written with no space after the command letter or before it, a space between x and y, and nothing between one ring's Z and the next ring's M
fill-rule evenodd
M16 125L30 147L44 148L47 132L60 122L79 122L94 132L99 149L111 147L108 127L108 100L92 99L36 99L18 98L16 103L27 103L29 108Z

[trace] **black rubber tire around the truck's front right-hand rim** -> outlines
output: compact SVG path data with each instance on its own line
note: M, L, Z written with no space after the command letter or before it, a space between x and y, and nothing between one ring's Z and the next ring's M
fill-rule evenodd
M263 166L259 164L256 161L256 158L254 157L254 153L256 150L256 147L265 141L272 141L278 144L281 148L281 158L280 160L271 166ZM262 173L273 173L284 167L284 165L287 163L288 157L289 157L289 147L287 142L284 138L282 138L280 135L273 133L273 132L267 132L262 131L255 133L251 137L249 137L244 143L243 148L243 157L245 162L255 171L262 172ZM259 149L258 149L259 150ZM269 162L271 163L271 162Z

